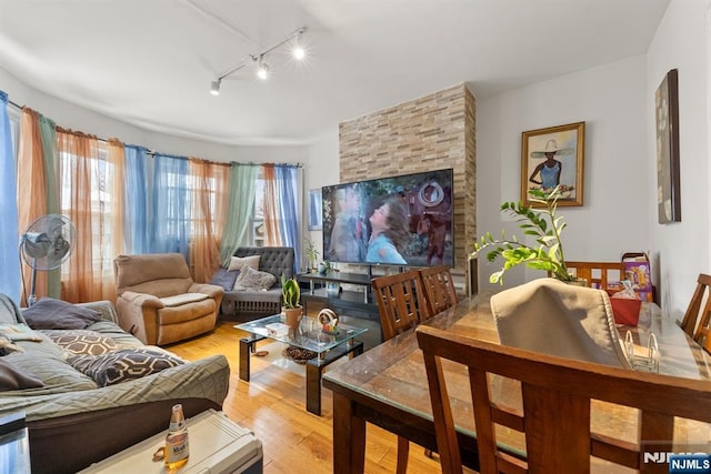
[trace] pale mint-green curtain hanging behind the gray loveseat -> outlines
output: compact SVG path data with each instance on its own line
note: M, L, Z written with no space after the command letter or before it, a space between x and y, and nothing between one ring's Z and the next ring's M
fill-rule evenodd
M254 184L259 178L259 164L231 163L230 193L228 198L228 216L220 248L220 260L223 265L242 243L249 229L254 209Z

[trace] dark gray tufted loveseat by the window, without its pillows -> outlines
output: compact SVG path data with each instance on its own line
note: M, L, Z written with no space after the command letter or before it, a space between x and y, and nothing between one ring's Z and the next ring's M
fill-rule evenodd
M268 291L229 290L222 296L222 316L228 320L250 321L281 312L281 274L293 276L293 249L290 246L240 246L234 256L260 255L259 270L277 276Z

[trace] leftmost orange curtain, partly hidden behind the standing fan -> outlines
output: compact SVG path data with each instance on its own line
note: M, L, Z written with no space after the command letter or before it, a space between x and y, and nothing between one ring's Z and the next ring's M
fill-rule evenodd
M32 222L47 212L47 178L39 114L23 107L20 130L22 133L18 147L18 229L22 234ZM21 306L27 306L31 274L32 269L22 263ZM37 272L36 294L47 294L46 272Z

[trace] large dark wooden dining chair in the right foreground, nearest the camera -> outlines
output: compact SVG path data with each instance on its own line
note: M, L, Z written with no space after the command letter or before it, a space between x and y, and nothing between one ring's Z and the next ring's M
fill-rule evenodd
M672 448L674 417L711 423L708 381L538 354L430 326L419 326L415 333L424 355L442 473L462 472L450 400L450 389L454 391L448 386L452 379L444 376L443 360L469 370L469 383L460 382L459 386L471 392L468 403L473 403L482 474L589 472L591 456L642 473L667 473L668 465L649 462L644 450L652 452L652 458L658 453L684 452L683 446ZM501 379L491 375L520 382L522 410L492 400L491 394L498 393L492 383ZM457 403L463 403L459 400ZM637 440L592 432L592 401L639 409L639 426L633 432ZM511 451L512 446L505 451L497 438L502 432L495 426L522 433L524 451ZM653 444L648 443L651 441ZM688 441L694 442L705 445L708 438ZM687 448L694 447L699 448Z

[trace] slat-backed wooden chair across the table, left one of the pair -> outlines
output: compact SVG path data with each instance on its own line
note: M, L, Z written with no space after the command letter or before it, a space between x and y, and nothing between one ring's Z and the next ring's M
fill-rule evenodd
M379 276L373 279L371 284L378 301L380 326L385 341L430 317L431 313L418 270ZM407 437L398 436L398 464L395 467L398 474L407 473L409 455L410 441Z

